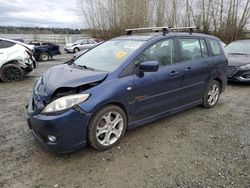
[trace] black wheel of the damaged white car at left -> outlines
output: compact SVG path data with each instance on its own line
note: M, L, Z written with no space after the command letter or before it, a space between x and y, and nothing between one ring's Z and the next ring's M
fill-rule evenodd
M23 79L24 72L15 64L4 65L0 70L0 78L3 82L14 82Z

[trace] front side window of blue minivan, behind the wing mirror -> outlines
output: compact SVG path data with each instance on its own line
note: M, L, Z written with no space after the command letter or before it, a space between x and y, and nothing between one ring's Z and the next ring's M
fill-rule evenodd
M146 61L158 61L160 67L175 63L174 40L168 39L146 49L136 60L136 64Z

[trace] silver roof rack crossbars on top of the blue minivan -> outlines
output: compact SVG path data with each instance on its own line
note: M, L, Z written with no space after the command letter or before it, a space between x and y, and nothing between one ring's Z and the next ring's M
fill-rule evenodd
M190 34L193 33L194 30L199 29L196 26L192 27L144 27L144 28L132 28L132 29L125 29L127 32L126 35L132 35L133 31L145 31L145 30L152 30L155 32L162 31L163 35L166 35L169 33L170 30L188 30Z

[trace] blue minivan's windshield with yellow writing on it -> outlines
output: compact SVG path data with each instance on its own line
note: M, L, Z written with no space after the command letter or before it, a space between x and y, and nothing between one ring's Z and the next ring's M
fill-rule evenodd
M93 48L75 60L77 66L112 72L145 41L110 40Z

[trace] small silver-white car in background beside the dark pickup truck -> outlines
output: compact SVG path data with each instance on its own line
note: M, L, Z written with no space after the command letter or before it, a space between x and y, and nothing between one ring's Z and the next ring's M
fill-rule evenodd
M97 44L98 42L93 38L81 39L76 41L75 43L66 44L64 47L64 51L76 53L82 50L91 49Z

